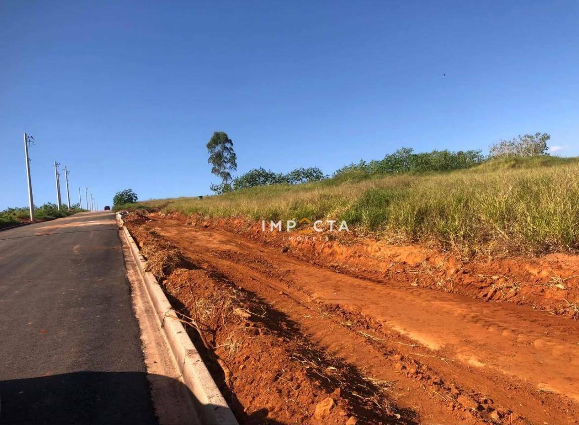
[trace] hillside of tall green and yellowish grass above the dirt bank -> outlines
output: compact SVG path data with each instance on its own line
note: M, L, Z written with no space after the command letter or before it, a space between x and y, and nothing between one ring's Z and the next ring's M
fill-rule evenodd
M145 204L212 217L346 220L351 230L393 242L467 254L567 251L579 248L579 158L503 158L427 175L354 171L316 183Z

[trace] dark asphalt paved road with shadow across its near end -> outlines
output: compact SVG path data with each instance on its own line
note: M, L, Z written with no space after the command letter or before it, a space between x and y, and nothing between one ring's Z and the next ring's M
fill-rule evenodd
M0 232L0 423L156 423L112 213Z

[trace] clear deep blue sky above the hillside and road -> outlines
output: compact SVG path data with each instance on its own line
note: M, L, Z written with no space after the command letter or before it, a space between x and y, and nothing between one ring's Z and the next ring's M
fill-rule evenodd
M579 155L579 2L0 2L0 209L207 194L206 143L238 173L488 149L548 132ZM64 184L63 184L64 187Z

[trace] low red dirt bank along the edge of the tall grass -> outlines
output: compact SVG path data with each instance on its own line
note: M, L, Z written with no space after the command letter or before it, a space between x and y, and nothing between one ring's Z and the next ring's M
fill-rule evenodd
M263 232L244 219L173 215L189 226L224 229L280 247L292 256L375 282L428 287L484 301L531 305L579 318L579 256L475 258L467 260L420 246L391 246L353 234L325 237L312 231Z

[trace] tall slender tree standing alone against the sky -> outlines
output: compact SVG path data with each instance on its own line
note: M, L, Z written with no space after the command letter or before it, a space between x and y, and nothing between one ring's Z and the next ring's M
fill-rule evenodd
M237 169L237 156L233 151L233 142L223 131L215 131L207 143L211 164L211 173L221 179L221 184L211 184L211 190L223 193L231 190L231 172Z

